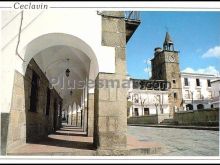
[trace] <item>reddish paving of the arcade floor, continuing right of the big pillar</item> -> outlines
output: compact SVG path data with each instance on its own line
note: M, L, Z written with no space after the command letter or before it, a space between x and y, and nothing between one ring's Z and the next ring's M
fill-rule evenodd
M161 151L157 142L138 141L134 136L127 137L127 149L122 155L149 155ZM86 136L82 128L65 125L48 138L35 143L27 143L9 151L7 155L61 155L97 156L93 137ZM111 153L108 154L111 156Z

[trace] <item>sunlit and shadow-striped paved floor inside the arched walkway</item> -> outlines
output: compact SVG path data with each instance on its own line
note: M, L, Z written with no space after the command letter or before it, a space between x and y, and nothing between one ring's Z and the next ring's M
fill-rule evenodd
M8 155L92 155L93 152L92 137L87 137L82 128L65 126L42 141L9 151Z

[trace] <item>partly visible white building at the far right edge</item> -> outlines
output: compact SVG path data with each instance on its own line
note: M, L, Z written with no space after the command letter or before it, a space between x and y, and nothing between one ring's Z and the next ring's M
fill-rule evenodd
M212 86L212 96L213 100L211 104L213 105L213 108L219 108L220 106L220 78L211 81Z

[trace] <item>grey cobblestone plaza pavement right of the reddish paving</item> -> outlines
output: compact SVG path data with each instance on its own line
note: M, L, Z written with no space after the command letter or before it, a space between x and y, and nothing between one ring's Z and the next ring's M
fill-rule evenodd
M218 156L219 131L128 126L128 134L160 143L160 156Z

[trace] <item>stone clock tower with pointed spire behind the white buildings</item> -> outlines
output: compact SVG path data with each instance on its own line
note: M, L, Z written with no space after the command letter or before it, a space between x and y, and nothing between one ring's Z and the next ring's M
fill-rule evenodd
M154 58L151 60L152 80L165 80L170 82L169 106L170 114L178 111L182 106L182 86L179 68L178 51L174 50L174 43L167 32L163 49L155 48Z

